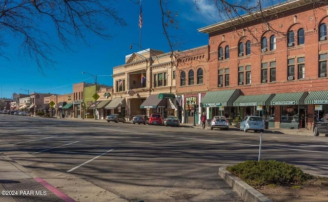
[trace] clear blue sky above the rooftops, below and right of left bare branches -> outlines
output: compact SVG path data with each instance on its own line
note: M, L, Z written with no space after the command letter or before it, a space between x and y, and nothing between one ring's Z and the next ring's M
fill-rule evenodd
M140 5L136 1L117 1L117 11L124 17L126 27L112 26L111 40L103 40L97 36L88 36L91 47L85 44L75 44L71 48L60 51L55 50L52 59L56 61L55 68L44 67L43 75L37 65L18 56L18 46L14 38L10 38L10 45L5 47L6 56L0 56L1 70L1 95L11 98L13 93L27 94L25 90L36 93L68 94L72 93L72 85L79 82L94 82L88 74L97 75L97 82L113 85L113 67L124 64L125 56L139 51L138 17ZM171 33L183 42L180 50L187 50L208 44L208 35L197 32L198 28L212 25L220 21L217 11L213 6L207 5L208 1L198 4L199 11L194 6L194 0L171 1L170 10L178 11L179 29ZM213 3L212 3L213 4ZM163 34L161 13L158 1L142 0L142 13L144 24L141 28L142 49L156 49L169 52L168 42ZM109 21L110 23L110 21ZM45 26L46 27L46 26ZM50 33L52 34L52 33ZM53 41L55 44L56 40ZM132 49L130 46L132 45ZM60 45L58 45L60 46Z

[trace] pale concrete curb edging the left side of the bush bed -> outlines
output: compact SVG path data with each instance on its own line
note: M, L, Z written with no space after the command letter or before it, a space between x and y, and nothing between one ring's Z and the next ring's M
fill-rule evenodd
M267 196L264 196L262 193L258 192L256 189L244 183L226 170L227 166L221 166L219 168L219 176L226 181L226 183L233 188L238 195L247 202L272 202Z

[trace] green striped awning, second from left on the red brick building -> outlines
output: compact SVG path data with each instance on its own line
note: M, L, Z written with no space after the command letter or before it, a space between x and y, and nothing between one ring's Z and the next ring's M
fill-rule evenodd
M239 96L234 102L234 106L265 106L270 105L270 101L275 94L247 95Z

